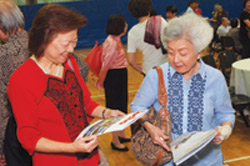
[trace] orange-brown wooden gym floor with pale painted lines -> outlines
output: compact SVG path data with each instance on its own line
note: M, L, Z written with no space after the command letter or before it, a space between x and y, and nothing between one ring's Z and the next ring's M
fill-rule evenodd
M126 50L126 46L124 46ZM76 50L75 53L82 59L86 57L90 49ZM137 57L137 61L141 64L141 56ZM89 73L87 86L92 94L92 99L105 106L105 97L103 89L99 90L95 87L97 77ZM128 96L130 104L140 87L143 77L128 65ZM129 108L129 107L128 107ZM130 108L128 110L130 112ZM130 136L130 129L125 130L127 136ZM130 143L125 145L129 147L128 152L118 152L111 149L112 135L110 133L101 135L98 138L99 146L105 154L110 166L142 166L139 163L132 150ZM229 166L250 166L250 128L247 128L240 117L236 118L235 127L230 138L222 143L222 151L225 158L225 164Z

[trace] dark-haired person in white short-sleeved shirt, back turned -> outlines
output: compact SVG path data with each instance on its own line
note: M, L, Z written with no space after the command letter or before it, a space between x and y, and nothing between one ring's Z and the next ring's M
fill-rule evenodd
M138 19L128 32L128 62L139 73L145 75L154 66L167 62L167 55L162 53L162 49L156 49L154 45L144 42L146 24L150 18L152 8L151 0L130 0L128 4L130 14ZM164 18L161 18L161 34L167 26ZM136 51L142 52L142 67L136 62Z

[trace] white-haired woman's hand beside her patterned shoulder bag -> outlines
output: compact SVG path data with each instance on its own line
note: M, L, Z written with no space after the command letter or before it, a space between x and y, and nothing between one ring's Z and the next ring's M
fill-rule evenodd
M160 128L156 127L155 125L149 122L145 122L144 127L151 136L154 144L160 145L167 151L171 151L170 147L168 147L166 144L166 140L168 140L169 138L163 133L163 131Z

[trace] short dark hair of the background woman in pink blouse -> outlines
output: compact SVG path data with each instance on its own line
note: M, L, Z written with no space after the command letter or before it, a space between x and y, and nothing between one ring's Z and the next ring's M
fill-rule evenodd
M106 25L106 33L108 35L120 35L124 32L126 24L126 19L122 14L115 14L109 16L107 25Z

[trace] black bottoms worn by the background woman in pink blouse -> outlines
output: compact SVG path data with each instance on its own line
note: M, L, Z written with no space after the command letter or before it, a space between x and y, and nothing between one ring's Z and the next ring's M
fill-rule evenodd
M106 107L128 112L127 68L110 69L104 81Z

